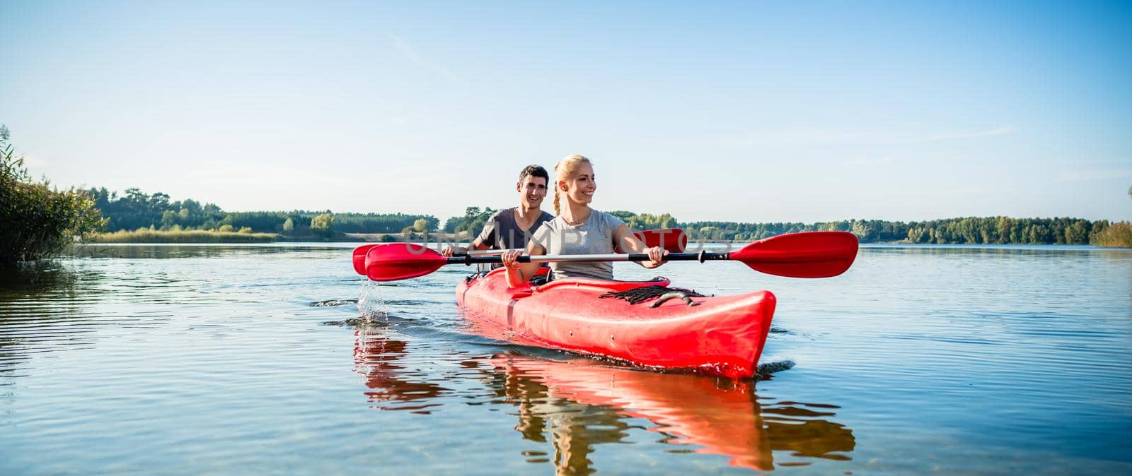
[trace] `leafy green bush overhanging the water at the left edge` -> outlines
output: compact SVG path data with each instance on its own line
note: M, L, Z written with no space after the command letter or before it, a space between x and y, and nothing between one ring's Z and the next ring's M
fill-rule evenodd
M48 258L75 237L102 230L105 220L94 200L74 188L32 180L10 138L8 127L0 126L0 265Z

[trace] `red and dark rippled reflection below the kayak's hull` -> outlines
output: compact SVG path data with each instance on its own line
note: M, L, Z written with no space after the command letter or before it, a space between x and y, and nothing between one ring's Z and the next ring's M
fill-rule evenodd
M731 466L757 470L774 468L772 450L792 451L795 457L848 460L849 457L839 452L852 451L856 444L850 430L822 419L833 416L829 410L837 407L798 403L762 407L755 399L751 381L642 372L588 360L551 361L509 354L496 355L489 363L495 372L506 375L507 396L521 400L521 423L516 430L528 439L541 434L548 419L571 419L580 415L577 409L569 408L571 403L576 403L649 419L658 425L650 431L672 436L668 443L700 447L694 451L727 456ZM557 435L555 447L563 453L556 460L574 461L574 465L588 462L585 453L592 452L591 444L604 442L593 441L600 434L590 433L610 426L608 422L593 423L599 427L591 430L584 421L551 424L551 433ZM627 427L624 422L618 426ZM625 433L619 433L624 438ZM799 464L807 462L790 462Z

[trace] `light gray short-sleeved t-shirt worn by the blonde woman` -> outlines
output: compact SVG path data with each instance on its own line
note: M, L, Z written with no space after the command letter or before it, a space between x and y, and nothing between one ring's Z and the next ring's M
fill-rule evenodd
M547 254L609 254L616 249L617 228L624 224L618 217L590 210L590 217L581 225L569 225L557 216L543 223L531 240L546 248ZM614 278L614 263L609 261L552 262L550 270L555 279Z

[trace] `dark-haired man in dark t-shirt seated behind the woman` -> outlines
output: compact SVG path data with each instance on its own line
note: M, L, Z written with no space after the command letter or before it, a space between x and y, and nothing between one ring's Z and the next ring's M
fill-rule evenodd
M547 197L547 184L550 183L550 174L539 165L528 165L518 174L518 182L515 191L518 192L518 206L507 208L488 217L483 224L483 231L472 240L472 244L464 246L444 246L440 254L451 257L454 253L469 250L507 250L525 249L526 242L531 240L539 226L543 222L554 219L554 215L542 211L542 199Z

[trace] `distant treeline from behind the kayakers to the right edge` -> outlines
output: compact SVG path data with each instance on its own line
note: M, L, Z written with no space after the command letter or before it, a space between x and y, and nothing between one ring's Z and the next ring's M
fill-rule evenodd
M475 234L496 210L468 207L464 216L445 222L448 233ZM1090 222L1081 218L966 217L929 222L849 219L821 223L679 222L669 214L651 215L609 211L634 230L683 228L692 241L756 241L784 233L841 231L861 242L959 243L959 244L1097 244L1132 245L1127 223Z

